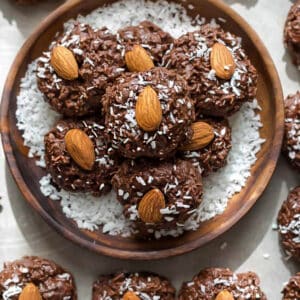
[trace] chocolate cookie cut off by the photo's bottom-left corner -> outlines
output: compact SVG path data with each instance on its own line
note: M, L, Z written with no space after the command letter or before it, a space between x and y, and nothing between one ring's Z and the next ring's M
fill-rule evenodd
M73 276L52 261L36 256L5 263L0 272L1 299L77 299Z

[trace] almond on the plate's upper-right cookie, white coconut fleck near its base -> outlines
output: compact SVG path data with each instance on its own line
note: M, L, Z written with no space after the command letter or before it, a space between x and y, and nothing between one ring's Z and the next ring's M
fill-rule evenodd
M230 79L235 70L235 62L228 48L216 43L213 45L210 55L210 64L216 75L221 79Z

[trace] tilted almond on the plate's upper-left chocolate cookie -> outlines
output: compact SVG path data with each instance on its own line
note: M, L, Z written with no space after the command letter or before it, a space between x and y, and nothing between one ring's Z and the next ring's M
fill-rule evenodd
M63 46L53 48L51 65L55 72L66 80L78 78L78 64L72 51Z

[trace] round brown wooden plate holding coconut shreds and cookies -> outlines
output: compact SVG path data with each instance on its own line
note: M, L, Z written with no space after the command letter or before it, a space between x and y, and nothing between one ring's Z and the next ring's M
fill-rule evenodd
M34 159L27 157L28 149L23 146L22 137L16 127L16 96L27 65L48 47L66 20L111 2L113 1L67 1L46 18L24 44L8 75L1 103L1 132L6 159L24 198L53 228L69 240L95 252L122 259L150 260L183 254L228 230L248 212L266 188L277 163L283 136L284 108L280 81L262 41L237 13L219 0L182 2L184 6L195 6L193 11L188 10L192 16L199 13L207 18L226 18L224 28L243 38L244 48L258 70L258 99L262 107L261 118L264 125L261 136L266 139L266 143L257 155L258 159L251 169L251 177L246 187L230 200L222 215L203 223L197 231L178 238L149 242L113 237L100 231L80 230L72 220L64 216L57 201L48 200L40 192L39 179L45 171L35 165Z

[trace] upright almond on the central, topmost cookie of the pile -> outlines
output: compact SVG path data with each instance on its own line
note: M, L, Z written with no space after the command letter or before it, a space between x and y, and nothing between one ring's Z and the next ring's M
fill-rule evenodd
M147 86L140 93L135 106L136 121L143 130L156 130L162 120L162 109L157 93Z

